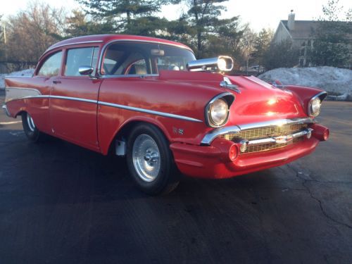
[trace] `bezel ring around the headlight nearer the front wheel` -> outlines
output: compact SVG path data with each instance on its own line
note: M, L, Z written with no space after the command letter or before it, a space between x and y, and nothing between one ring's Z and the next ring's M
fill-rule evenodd
M209 127L222 127L226 125L227 120L229 120L230 106L233 101L234 101L234 94L230 92L219 94L218 96L215 96L213 99L211 99L206 105L206 111L205 111L206 125L208 125ZM221 118L221 122L216 122L213 116L213 111L216 111L214 106L216 106L217 103L222 104L222 106L225 106L226 108L225 109L226 112L223 118Z

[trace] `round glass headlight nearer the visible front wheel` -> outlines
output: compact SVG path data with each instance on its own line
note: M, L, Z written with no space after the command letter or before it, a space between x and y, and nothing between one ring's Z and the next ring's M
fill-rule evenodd
M208 106L208 125L211 127L220 127L225 125L229 116L229 106L227 102L222 99L215 99L210 102Z

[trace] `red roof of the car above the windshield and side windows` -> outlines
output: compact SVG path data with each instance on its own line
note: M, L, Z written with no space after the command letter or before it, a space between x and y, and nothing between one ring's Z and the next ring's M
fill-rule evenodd
M118 41L134 41L134 42L156 42L160 44L168 44L172 46L179 46L184 49L189 49L191 50L188 46L178 43L178 42L172 42L167 39L158 39L156 37L142 37L142 36L134 36L134 35L129 35L129 34L95 34L95 35L89 35L89 36L82 36L82 37L74 37L72 39L65 39L61 42L57 42L56 44L52 45L47 49L44 54L46 54L48 51L51 51L53 49L56 49L61 46L70 46L70 45L75 45L75 44L87 44L87 43L102 43L106 44L108 42L113 42L114 40Z

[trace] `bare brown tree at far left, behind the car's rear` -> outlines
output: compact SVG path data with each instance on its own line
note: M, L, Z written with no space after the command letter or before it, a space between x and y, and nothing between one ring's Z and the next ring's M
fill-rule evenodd
M6 51L11 61L37 61L63 36L65 12L49 4L32 2L25 11L8 18Z

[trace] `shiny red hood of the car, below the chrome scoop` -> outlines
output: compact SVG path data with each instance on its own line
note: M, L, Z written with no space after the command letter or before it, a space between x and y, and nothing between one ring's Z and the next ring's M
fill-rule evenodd
M236 84L240 93L220 87L225 75L219 73L161 72L160 78L179 84L189 84L191 89L213 89L216 94L231 92L235 96L230 108L227 125L242 125L251 122L282 118L303 118L306 111L301 99L287 89L273 87L253 76L227 76ZM211 98L209 98L210 101Z

